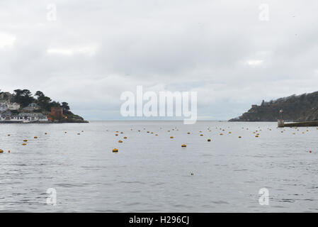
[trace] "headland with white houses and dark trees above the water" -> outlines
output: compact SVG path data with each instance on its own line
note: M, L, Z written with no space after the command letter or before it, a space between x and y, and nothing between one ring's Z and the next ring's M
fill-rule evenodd
M28 89L16 89L13 94L0 91L0 121L87 122L73 114L67 102L52 101L40 91L33 95Z

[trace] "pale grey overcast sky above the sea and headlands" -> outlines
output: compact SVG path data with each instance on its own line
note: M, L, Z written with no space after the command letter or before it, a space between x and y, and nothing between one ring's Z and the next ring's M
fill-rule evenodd
M0 89L40 90L91 120L121 118L137 85L195 91L199 119L226 120L318 90L317 12L316 0L1 0Z

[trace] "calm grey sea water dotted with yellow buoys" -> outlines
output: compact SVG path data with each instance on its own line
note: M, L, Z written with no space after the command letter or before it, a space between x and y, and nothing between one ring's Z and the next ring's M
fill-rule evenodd
M318 130L276 125L1 124L0 211L317 212ZM49 188L56 206L47 205Z

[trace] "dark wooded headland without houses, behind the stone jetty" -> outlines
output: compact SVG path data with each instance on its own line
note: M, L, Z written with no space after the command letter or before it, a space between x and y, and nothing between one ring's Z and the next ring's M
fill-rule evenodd
M229 121L277 121L280 109L285 121L318 121L318 92L262 101L261 106L252 105L242 116Z

